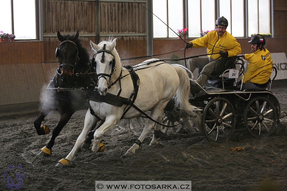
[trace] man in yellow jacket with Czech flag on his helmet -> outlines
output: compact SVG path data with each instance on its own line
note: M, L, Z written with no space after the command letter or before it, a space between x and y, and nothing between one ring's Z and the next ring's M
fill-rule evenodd
M256 34L252 36L248 43L251 44L253 53L242 55L245 60L249 61L247 72L244 74L242 88L264 90L268 86L273 69L270 52L263 47L266 41L262 35Z

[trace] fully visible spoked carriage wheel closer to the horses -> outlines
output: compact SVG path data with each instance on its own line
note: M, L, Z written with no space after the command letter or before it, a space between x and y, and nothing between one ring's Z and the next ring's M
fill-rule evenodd
M227 141L235 128L235 110L225 98L213 98L204 107L202 130L208 140Z

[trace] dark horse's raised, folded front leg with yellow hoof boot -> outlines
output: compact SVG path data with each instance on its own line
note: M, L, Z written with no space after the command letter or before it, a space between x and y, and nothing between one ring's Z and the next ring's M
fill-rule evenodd
M37 131L38 135L46 135L50 132L50 129L46 126L41 127L42 121L44 118L53 110L51 105L47 103L48 100L45 101L41 112L39 113L38 117L34 121L34 127Z

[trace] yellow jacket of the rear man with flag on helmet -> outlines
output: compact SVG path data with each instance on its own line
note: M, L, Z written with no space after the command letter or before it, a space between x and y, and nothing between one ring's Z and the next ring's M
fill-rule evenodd
M252 54L245 54L245 60L249 61L247 72L244 74L243 83L250 81L256 84L265 84L272 73L272 58L270 52L258 49Z

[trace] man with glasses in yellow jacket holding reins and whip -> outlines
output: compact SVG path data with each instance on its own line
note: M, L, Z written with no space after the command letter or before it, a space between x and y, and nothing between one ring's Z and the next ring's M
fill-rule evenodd
M208 54L220 53L220 55L213 54L208 55L208 57L190 58L187 61L187 67L191 72L196 68L202 69L196 80L202 87L221 57L233 57L241 53L240 44L226 31L228 27L227 19L219 17L216 19L215 25L216 30L210 31L205 36L186 43L186 48L207 47Z

